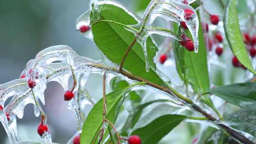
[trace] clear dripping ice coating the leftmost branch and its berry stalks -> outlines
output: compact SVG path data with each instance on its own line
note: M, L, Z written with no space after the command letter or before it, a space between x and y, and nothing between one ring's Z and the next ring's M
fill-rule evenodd
M68 101L67 107L73 110L78 124L77 131L81 133L82 125L86 118L84 113L85 105L93 106L96 103L85 88L86 81L91 73L102 75L103 72L107 72L107 93L110 92L110 81L116 76L122 77L130 84L136 82L119 74L117 72L118 69L108 67L113 65L109 61L105 61L104 58L100 61L94 61L90 58L79 56L71 47L66 45L48 47L39 52L34 60L30 60L27 63L26 69L21 73L21 76L26 75L25 78L0 85L0 105L4 106L5 101L12 97L4 110L0 111L0 121L9 136L10 142L18 144L16 116L18 118L23 117L23 111L27 104L34 105L35 116L38 117L40 115L41 107L38 100L40 99L45 104L44 90L46 89L46 83L56 81L63 86L64 90L70 90L67 84L69 77L72 75L77 82L73 90L75 97ZM35 82L33 89L29 88L28 81ZM132 90L143 89L148 90L148 87L135 87ZM6 117L6 113L9 114L9 120ZM45 119L43 124L46 125L46 122ZM45 144L52 143L50 131L47 131L41 137Z

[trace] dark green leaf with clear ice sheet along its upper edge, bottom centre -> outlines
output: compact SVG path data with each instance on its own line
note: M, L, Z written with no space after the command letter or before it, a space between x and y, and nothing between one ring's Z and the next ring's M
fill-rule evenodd
M157 144L186 118L186 116L167 114L170 110L170 105L154 108L135 125L131 135L139 135L142 144Z

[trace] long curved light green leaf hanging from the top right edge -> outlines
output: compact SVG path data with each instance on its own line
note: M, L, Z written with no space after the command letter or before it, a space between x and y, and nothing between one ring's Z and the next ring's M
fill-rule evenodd
M239 28L237 11L238 0L228 0L226 5L227 6L225 9L223 22L229 46L240 61L240 63L242 63L248 70L256 74L249 59L247 49L244 45L241 31Z

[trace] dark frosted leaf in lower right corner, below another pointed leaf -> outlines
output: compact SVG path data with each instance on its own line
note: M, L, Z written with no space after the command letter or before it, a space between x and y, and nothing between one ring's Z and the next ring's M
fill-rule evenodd
M244 108L223 118L223 123L232 128L256 136L256 106L247 105Z

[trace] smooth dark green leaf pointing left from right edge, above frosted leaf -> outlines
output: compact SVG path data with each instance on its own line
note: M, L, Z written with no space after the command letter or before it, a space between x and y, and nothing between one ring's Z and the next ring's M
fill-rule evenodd
M256 82L236 83L220 86L209 90L210 93L234 104L238 107L247 107L250 103L256 103Z

